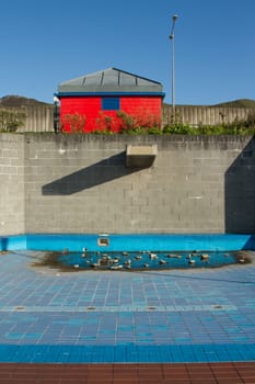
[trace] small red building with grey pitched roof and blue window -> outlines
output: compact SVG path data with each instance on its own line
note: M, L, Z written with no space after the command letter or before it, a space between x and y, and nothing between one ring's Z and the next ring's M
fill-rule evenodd
M61 82L60 129L119 132L161 123L162 84L117 68Z

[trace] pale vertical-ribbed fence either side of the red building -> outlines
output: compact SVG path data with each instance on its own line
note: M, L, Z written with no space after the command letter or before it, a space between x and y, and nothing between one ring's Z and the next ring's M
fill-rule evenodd
M24 125L18 132L54 132L54 105L24 106L12 109L24 112L26 117ZM255 109L246 108L218 108L176 105L175 116L178 122L193 126L217 125L246 120L250 114L255 114ZM163 105L162 126L173 121L173 109L169 104Z

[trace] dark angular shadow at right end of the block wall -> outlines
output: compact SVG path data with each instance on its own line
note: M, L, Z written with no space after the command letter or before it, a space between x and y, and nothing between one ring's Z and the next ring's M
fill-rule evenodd
M252 138L224 178L225 233L255 233L255 139Z

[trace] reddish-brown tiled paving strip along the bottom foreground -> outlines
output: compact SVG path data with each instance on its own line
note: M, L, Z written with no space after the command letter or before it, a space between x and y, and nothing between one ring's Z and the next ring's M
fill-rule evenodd
M254 384L255 363L0 364L3 384Z

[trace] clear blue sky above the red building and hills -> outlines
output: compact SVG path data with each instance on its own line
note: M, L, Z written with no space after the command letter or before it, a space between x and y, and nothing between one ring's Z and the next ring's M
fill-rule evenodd
M9 0L0 97L53 102L59 82L108 67L163 83L176 104L255 99L255 0Z

